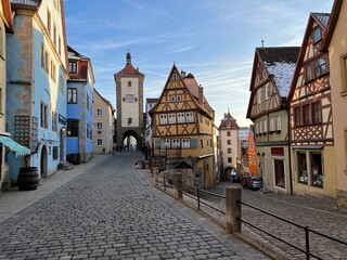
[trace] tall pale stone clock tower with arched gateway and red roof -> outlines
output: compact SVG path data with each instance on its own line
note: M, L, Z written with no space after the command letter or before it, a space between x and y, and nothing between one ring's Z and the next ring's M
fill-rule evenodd
M144 143L143 126L143 80L144 75L131 64L127 53L126 66L114 75L116 81L117 145L133 136L138 148Z

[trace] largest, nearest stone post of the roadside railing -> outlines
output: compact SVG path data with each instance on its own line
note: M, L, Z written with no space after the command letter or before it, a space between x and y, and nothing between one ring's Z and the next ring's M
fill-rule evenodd
M226 187L226 231L241 232L241 187Z

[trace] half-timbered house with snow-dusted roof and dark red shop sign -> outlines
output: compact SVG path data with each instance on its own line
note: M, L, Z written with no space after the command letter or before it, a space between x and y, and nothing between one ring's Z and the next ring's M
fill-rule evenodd
M247 118L255 123L258 174L265 188L291 193L288 94L298 47L257 48L250 79Z

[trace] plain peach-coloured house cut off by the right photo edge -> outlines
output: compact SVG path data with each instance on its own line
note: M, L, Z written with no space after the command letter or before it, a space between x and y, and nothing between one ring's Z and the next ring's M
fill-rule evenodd
M334 146L336 156L336 196L339 207L347 208L347 2L335 0L327 25L323 51L329 51L332 91Z

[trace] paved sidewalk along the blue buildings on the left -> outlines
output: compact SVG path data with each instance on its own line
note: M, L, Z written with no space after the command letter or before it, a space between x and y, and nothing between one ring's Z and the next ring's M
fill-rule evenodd
M70 180L88 171L93 166L114 155L93 154L87 164L76 165L70 170L59 170L47 179L41 180L36 191L18 191L13 187L0 194L0 223L16 214L26 207L42 199Z

